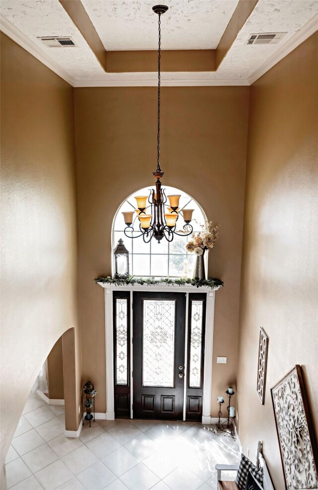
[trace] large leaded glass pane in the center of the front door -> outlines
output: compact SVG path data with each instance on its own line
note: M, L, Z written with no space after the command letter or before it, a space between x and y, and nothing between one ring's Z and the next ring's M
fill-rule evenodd
M143 300L143 386L174 386L175 300Z

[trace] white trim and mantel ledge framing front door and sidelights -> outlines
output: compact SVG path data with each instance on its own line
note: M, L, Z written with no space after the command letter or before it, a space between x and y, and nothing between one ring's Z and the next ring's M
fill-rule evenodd
M170 291L183 292L187 295L193 292L206 292L206 324L205 324L205 345L204 345L204 381L203 381L203 401L202 401L202 423L211 423L211 390L212 390L212 358L213 358L213 329L214 329L214 301L215 291L209 288L195 286L110 286L100 284L105 289L105 354L106 354L106 420L115 419L114 403L114 347L113 347L113 291L147 291L152 289L154 292ZM132 294L131 294L132 299ZM132 308L132 301L131 301ZM132 313L132 310L131 310ZM187 317L186 317L187 320ZM132 314L131 314L131 366L132 366ZM131 369L132 371L132 369ZM132 390L132 379L131 379ZM132 391L131 391L132 404ZM184 412L185 413L185 412ZM131 405L131 418L133 416Z

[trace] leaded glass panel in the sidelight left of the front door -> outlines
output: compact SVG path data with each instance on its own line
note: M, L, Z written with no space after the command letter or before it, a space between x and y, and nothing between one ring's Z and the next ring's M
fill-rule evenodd
M125 298L116 299L116 384L120 385L128 383L127 304Z

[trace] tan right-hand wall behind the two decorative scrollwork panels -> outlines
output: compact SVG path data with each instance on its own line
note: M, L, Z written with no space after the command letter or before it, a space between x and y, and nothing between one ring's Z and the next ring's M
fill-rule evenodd
M303 367L318 432L318 33L254 83L250 95L241 283L238 422L284 488L270 388ZM256 393L259 327L269 337L266 395Z

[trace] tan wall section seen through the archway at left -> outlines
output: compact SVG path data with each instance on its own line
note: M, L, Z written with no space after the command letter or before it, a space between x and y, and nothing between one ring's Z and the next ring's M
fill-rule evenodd
M54 344L48 355L49 398L64 400L63 346L62 337Z

